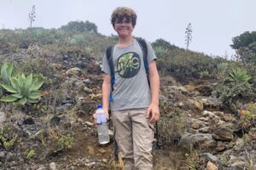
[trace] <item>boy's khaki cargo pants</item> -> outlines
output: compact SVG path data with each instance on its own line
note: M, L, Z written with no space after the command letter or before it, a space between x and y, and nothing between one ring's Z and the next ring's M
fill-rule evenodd
M112 111L115 139L125 170L151 170L154 126L146 118L147 109Z

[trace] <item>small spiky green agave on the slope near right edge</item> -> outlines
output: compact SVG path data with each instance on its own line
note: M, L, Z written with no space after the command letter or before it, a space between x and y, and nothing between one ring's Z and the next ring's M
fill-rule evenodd
M229 79L231 82L248 82L251 79L251 77L247 75L246 70L236 68L230 72Z

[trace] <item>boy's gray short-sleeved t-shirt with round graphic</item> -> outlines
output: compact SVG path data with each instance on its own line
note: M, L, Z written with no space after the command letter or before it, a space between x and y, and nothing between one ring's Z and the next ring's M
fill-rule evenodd
M156 59L149 42L148 63ZM150 105L151 92L143 61L143 51L136 39L130 46L113 47L113 66L115 83L113 85L113 102L111 111L145 108ZM102 61L102 71L111 74L106 54Z

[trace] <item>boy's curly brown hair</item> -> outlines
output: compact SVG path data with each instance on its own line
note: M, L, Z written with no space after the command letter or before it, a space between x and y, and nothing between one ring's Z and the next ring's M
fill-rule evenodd
M131 20L131 24L134 27L136 25L137 14L132 8L128 7L118 7L113 10L111 14L111 24L114 26L115 20Z

